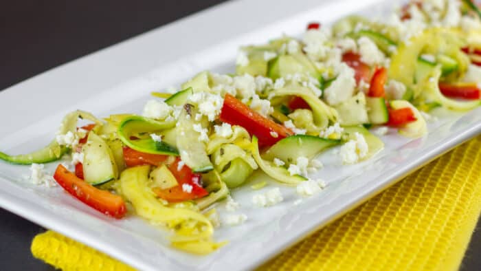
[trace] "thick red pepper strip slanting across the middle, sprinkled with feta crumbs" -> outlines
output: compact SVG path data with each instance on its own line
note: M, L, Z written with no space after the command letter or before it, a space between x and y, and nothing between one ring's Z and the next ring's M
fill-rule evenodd
M230 94L225 95L219 118L223 122L244 127L251 135L256 135L259 147L271 146L282 138L293 135L291 130L251 110Z

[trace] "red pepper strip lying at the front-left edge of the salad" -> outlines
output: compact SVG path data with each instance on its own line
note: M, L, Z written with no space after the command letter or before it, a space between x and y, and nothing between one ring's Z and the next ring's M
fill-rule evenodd
M113 195L109 191L100 190L84 180L79 179L74 173L65 169L65 166L62 164L57 166L54 179L70 195L73 195L79 199L80 202L98 210L100 213L120 219L124 217L127 212L122 197Z

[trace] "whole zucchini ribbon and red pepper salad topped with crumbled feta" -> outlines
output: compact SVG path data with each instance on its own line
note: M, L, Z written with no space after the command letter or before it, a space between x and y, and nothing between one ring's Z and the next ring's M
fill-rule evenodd
M115 219L142 217L170 230L173 247L208 254L225 243L212 237L215 203L235 209L230 190L254 172L311 196L324 188L309 173L326 149L338 147L339 166L355 164L383 149L388 127L420 138L432 109L480 106L480 18L471 1L425 0L382 20L309 23L300 39L240 47L234 74L201 72L173 94L153 93L142 115L73 111L47 147L0 160L30 164L34 182ZM53 179L45 173L65 157ZM279 188L252 199L280 201Z

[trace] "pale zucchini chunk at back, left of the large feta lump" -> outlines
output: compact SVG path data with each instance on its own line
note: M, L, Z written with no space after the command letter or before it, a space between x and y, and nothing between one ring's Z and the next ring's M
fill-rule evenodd
M267 76L276 80L288 74L308 74L317 78L317 69L313 63L302 53L282 55L269 62Z

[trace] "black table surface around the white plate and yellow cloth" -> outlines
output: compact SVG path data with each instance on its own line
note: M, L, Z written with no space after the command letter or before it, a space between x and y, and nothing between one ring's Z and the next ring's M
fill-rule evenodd
M3 1L0 89L223 1ZM44 230L0 208L1 270L53 270L30 253ZM479 231L461 270L481 270Z

